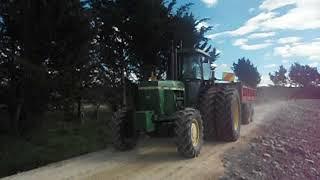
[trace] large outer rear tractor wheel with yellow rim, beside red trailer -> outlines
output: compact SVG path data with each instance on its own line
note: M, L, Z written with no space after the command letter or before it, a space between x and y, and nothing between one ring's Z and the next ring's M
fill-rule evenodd
M236 141L240 136L241 104L238 91L226 88L216 94L217 138Z

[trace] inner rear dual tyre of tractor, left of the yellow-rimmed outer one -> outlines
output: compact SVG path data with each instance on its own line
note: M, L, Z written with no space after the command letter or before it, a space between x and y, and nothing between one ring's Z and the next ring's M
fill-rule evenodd
M211 87L200 97L200 112L203 119L204 139L212 140L216 137L216 93L218 88Z

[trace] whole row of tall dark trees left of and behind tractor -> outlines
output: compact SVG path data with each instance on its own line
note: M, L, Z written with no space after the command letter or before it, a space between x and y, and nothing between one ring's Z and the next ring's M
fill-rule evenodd
M163 77L172 42L200 48L215 60L204 36L211 27L197 28L207 19L195 18L191 5L2 0L0 104L9 107L12 132L20 132L21 121L34 126L30 119L48 109L63 110L66 119L77 109L80 117L84 99L119 104L125 82L147 79L151 72Z

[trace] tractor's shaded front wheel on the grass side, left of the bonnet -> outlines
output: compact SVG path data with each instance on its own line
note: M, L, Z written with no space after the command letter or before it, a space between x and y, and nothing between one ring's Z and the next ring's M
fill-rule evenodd
M135 147L138 135L134 131L130 112L126 108L122 108L113 114L109 127L115 149L125 151Z

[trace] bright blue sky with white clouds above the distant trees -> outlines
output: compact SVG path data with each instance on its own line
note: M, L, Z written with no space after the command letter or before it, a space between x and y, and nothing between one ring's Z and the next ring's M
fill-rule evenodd
M221 51L217 76L231 71L240 57L249 58L262 75L261 85L271 84L268 73L293 62L320 70L320 0L181 0L194 3L207 34Z

